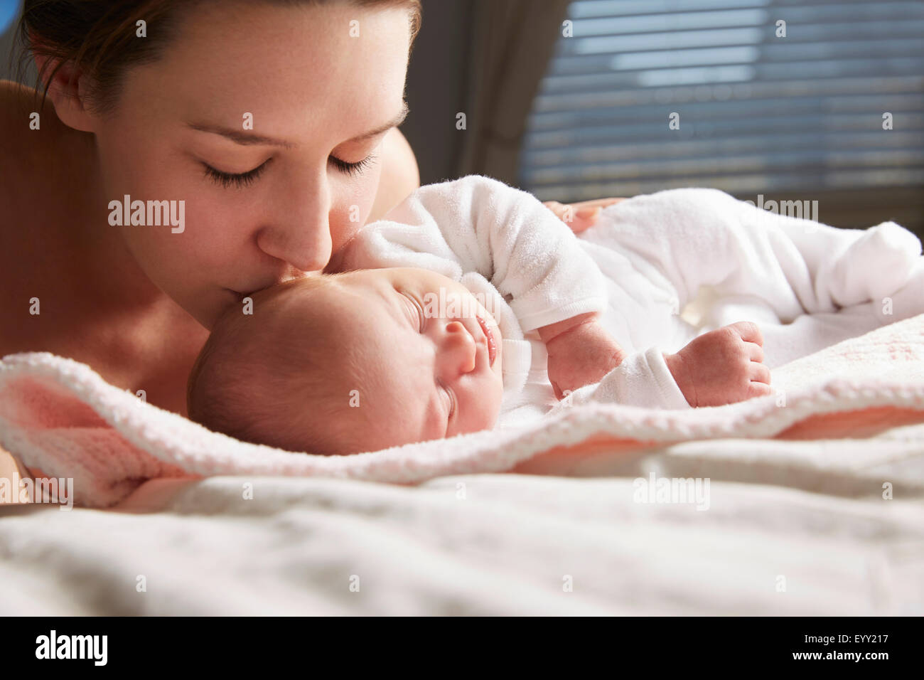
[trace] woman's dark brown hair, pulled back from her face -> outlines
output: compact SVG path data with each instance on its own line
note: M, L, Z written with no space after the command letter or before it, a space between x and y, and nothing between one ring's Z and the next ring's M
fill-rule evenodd
M328 5L338 0L262 0L274 5ZM50 57L39 73L44 97L55 72L67 62L88 76L88 105L97 113L115 108L128 68L156 61L176 35L180 15L203 2L230 0L26 0L18 23L18 80L32 54ZM407 7L410 42L420 29L420 0L339 0L360 8ZM136 38L144 20L146 37ZM50 66L50 69L49 69Z

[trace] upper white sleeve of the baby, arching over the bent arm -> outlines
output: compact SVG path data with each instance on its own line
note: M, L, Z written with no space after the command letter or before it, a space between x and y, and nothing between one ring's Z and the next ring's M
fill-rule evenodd
M470 175L413 192L359 229L341 269L418 266L459 280L476 271L523 332L606 307L600 268L571 229L527 192Z

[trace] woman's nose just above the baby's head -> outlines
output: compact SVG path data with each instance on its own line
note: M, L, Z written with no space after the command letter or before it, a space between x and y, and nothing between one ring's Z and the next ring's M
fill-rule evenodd
M271 221L258 232L257 245L299 271L320 271L333 250L329 211L326 181L293 183L274 201Z

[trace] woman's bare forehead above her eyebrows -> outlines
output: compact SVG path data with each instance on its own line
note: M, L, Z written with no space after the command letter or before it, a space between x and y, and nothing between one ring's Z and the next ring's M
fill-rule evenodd
M351 20L360 21L356 38ZM196 122L239 128L249 112L255 132L290 142L319 130L351 139L401 112L407 40L407 20L395 11L254 3L217 12L204 4L139 75L146 99L164 99Z

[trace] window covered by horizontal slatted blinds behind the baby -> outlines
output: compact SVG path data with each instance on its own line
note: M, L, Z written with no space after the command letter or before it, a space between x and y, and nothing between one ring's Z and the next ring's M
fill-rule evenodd
M568 19L529 117L524 189L849 193L899 217L876 221L919 227L919 0L580 0Z

